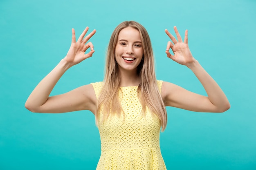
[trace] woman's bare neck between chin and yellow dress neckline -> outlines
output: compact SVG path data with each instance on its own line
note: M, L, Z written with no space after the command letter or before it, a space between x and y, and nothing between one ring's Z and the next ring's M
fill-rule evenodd
M127 86L139 86L139 77L135 71L121 71L119 70L119 74L121 77L120 86L127 87Z

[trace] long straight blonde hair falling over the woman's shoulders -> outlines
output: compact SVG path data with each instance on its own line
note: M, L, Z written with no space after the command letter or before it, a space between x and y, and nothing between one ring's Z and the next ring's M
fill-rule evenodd
M160 119L162 131L164 131L167 123L167 114L157 86L151 41L144 26L135 21L122 22L115 28L111 35L106 56L103 87L99 98L97 99L97 109L95 113L96 124L99 124L99 111L101 108L104 113L103 120L106 119L110 113L121 115L123 112L118 97L121 78L119 76L119 68L115 60L115 47L117 45L119 32L126 27L137 29L140 33L142 42L143 58L137 67L137 74L140 79L137 94L142 106L142 113L145 113L147 106L149 110L155 113L155 115Z

